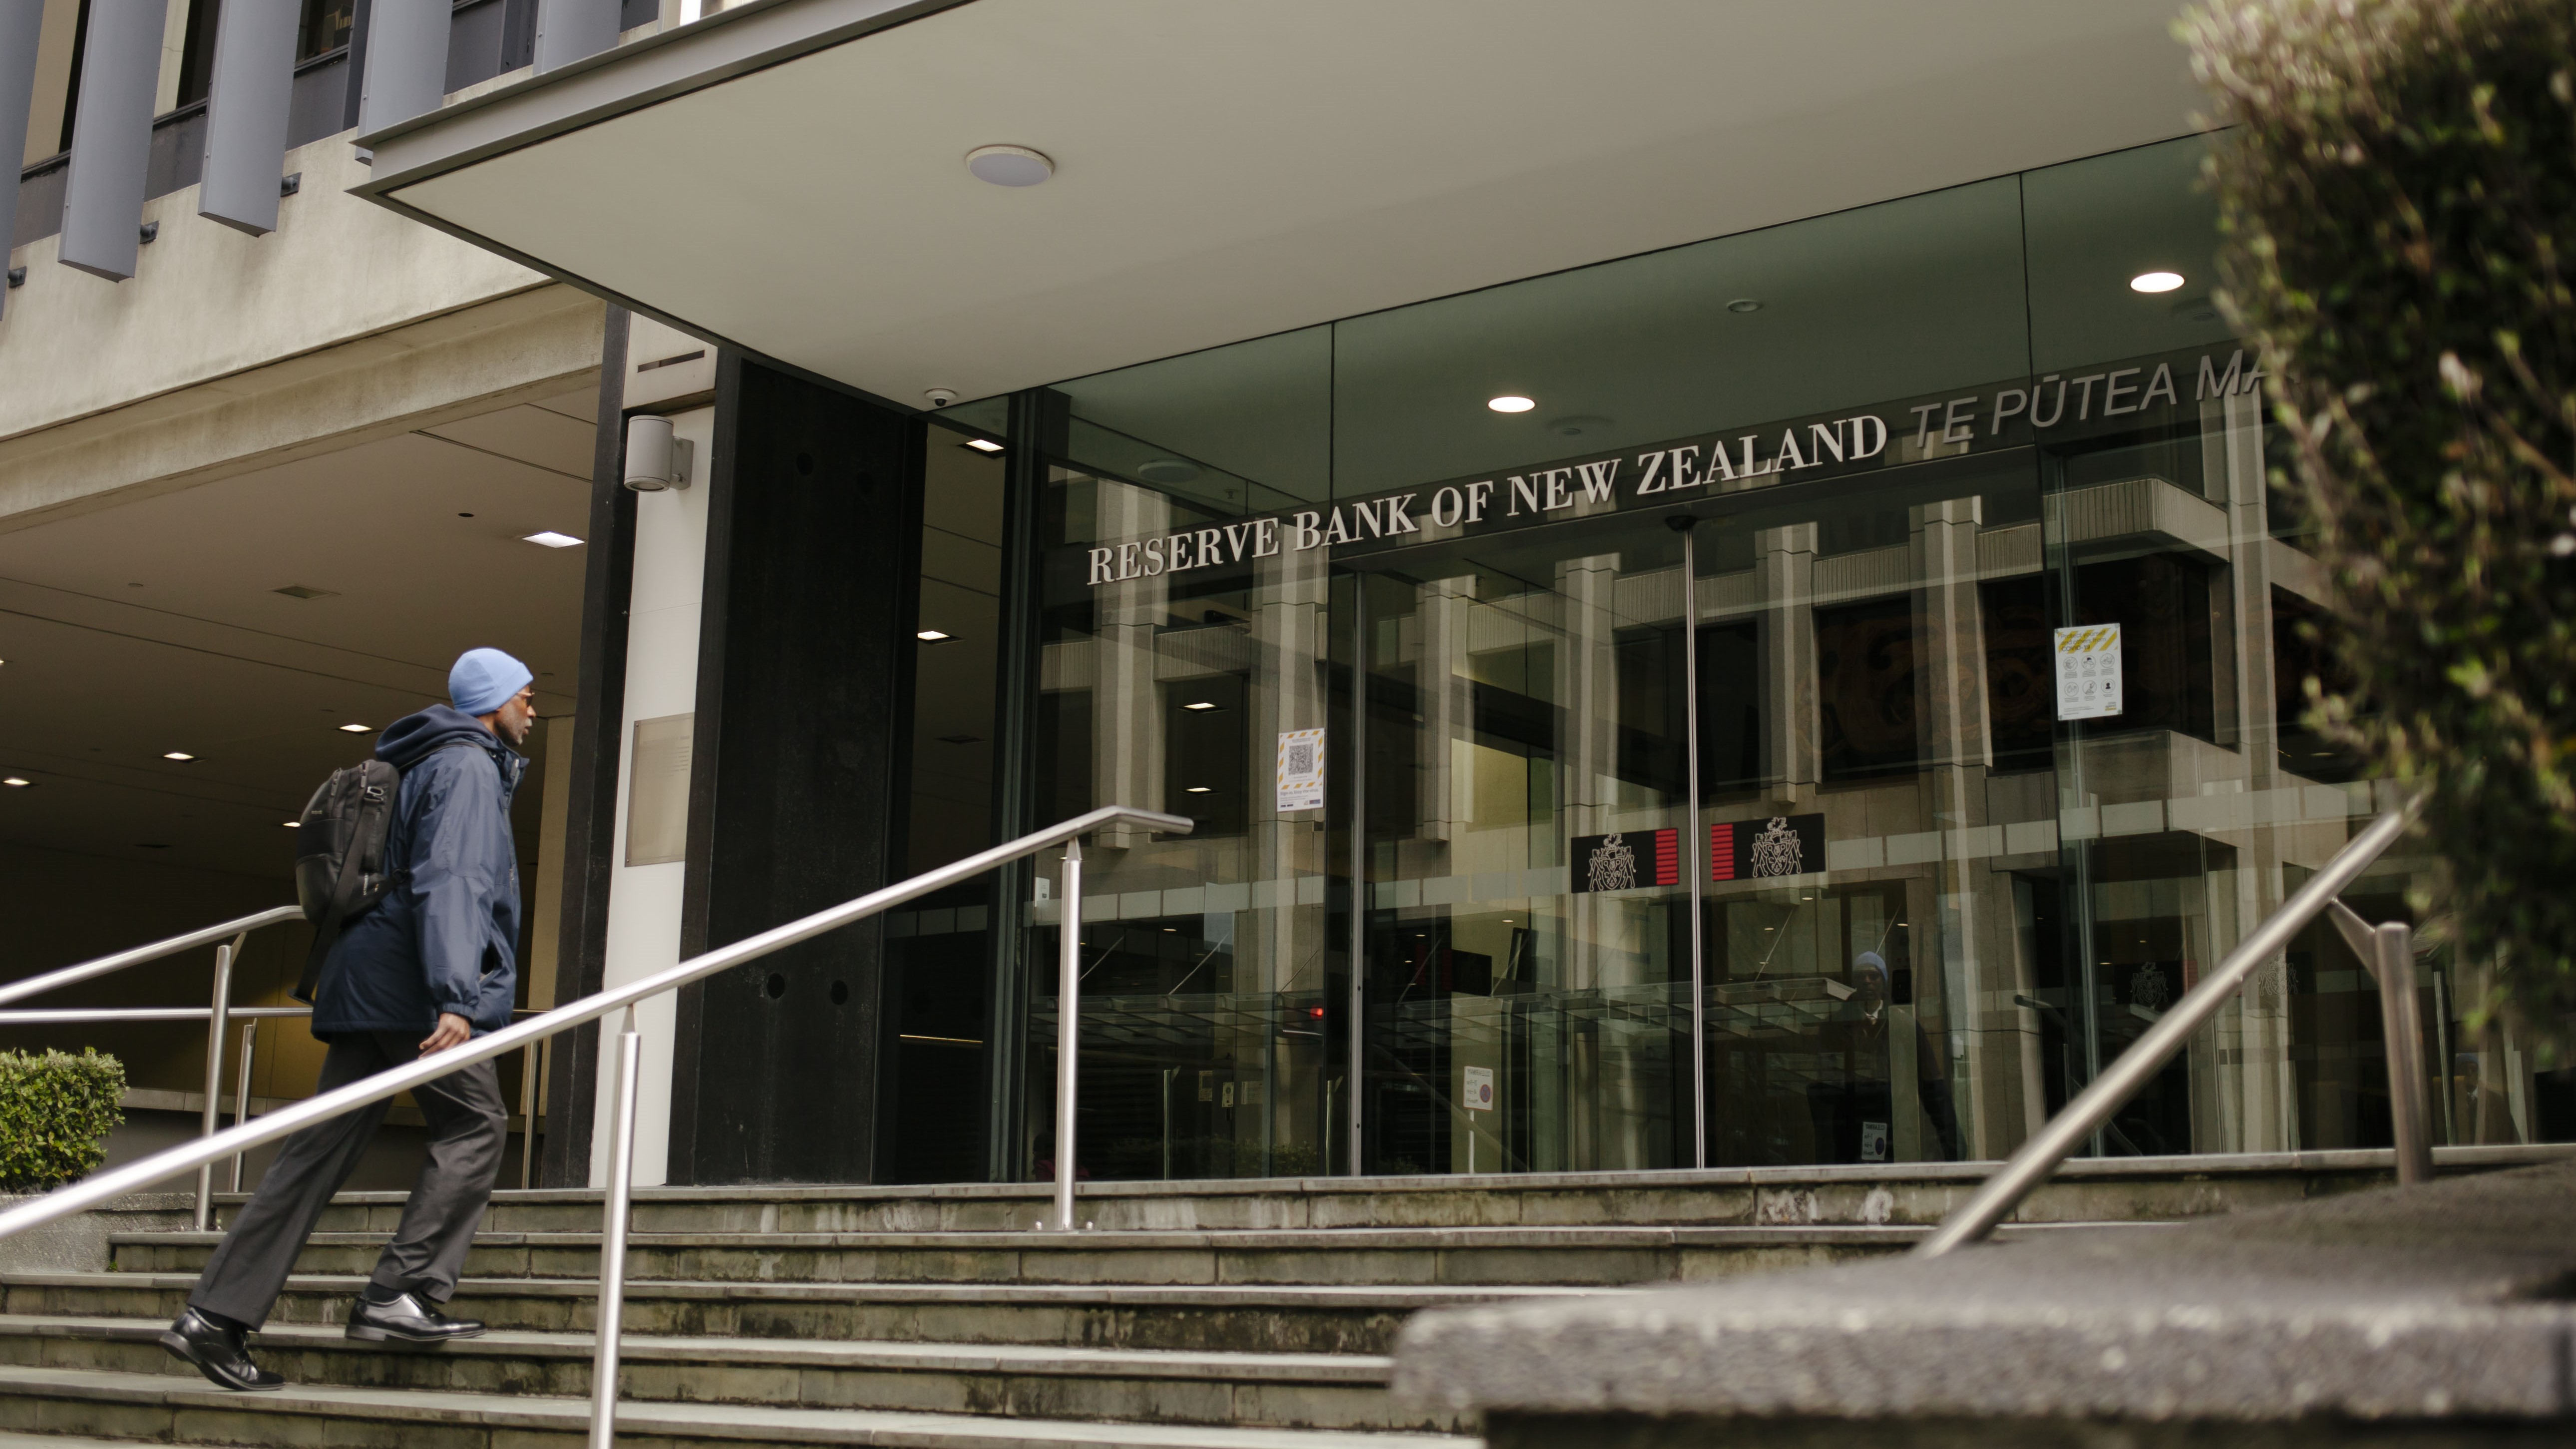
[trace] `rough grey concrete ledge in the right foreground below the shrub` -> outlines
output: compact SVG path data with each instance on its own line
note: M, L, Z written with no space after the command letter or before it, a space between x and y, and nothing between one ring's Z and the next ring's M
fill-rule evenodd
M2576 1439L2576 1163L2156 1233L1445 1307L1399 1398L1497 1449Z

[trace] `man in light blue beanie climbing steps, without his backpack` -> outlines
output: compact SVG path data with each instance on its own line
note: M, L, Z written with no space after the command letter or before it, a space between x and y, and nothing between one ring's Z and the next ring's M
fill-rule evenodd
M330 1042L314 1094L510 1024L518 996L518 852L510 795L528 762L513 744L536 718L528 667L471 649L448 672L451 705L384 728L376 759L402 770L384 865L392 888L348 921L314 991L314 1037ZM448 1318L474 1228L492 1199L510 1114L492 1063L412 1089L430 1125L430 1158L348 1336L443 1343L484 1331ZM268 1320L296 1253L358 1168L386 1104L361 1107L286 1138L260 1189L162 1333L162 1349L229 1390L273 1390L245 1338Z

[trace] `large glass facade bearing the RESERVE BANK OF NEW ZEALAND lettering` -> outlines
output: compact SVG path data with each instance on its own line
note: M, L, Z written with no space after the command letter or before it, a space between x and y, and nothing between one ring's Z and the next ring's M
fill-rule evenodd
M1015 399L1005 824L1198 826L1087 854L1079 1168L1999 1158L2136 1040L2388 806L2298 723L2336 651L2197 157ZM1005 1176L1054 1158L1051 878L994 911ZM2398 1071L2439 1140L2566 1135L2476 975L2421 960ZM2372 991L2311 932L2097 1150L2385 1145Z

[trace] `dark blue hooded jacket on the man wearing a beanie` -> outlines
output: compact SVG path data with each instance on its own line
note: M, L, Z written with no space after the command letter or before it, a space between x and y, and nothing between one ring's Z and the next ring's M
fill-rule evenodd
M314 991L312 1032L417 1032L440 1011L477 1032L518 999L518 849L510 795L528 762L474 715L430 705L376 736L402 770L386 870L397 885L350 921Z

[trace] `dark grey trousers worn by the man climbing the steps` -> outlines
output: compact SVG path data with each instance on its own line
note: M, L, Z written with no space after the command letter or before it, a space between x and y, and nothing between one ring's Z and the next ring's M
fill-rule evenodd
M420 1037L410 1032L340 1037L322 1058L322 1081L314 1091L332 1091L417 1058ZM500 1102L500 1073L487 1060L415 1086L412 1102L430 1122L430 1161L420 1166L420 1181L402 1207L394 1241L376 1259L374 1282L446 1302L456 1292L456 1274L464 1271L484 1204L492 1202L510 1114ZM247 1328L268 1323L268 1307L286 1287L296 1253L304 1251L332 1194L358 1171L358 1158L384 1125L386 1107L386 1102L361 1107L286 1138L260 1189L242 1204L224 1243L198 1274L188 1307L219 1313Z

